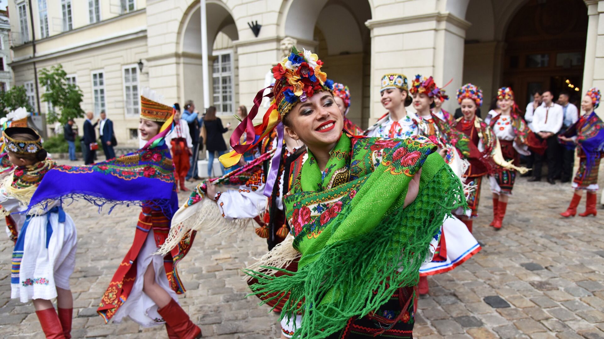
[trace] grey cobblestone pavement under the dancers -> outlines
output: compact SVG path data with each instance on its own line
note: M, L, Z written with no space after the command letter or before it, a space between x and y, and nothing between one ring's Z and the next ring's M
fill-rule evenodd
M487 226L492 203L484 180L474 223L483 250L454 271L429 278L430 294L419 300L415 337L604 338L604 210L597 218L564 220L557 214L571 196L570 184L519 179L504 229L495 232ZM584 206L585 198L580 212ZM167 337L162 326L143 329L129 320L105 325L95 312L130 245L139 209L120 207L108 216L78 202L66 211L79 235L71 276L73 337ZM239 270L265 249L252 230L245 236L198 233L179 264L187 288L180 300L204 337L278 337L277 316L257 306L255 297L244 299ZM9 299L11 250L7 238L0 241L0 337L43 338L31 303ZM489 305L498 302L507 307Z

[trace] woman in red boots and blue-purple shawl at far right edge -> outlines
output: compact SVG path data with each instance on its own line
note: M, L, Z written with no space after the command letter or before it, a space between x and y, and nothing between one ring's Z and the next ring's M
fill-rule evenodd
M596 192L598 186L598 171L600 168L600 159L604 154L604 122L597 116L594 109L600 105L602 95L596 87L591 88L581 101L581 109L585 114L568 128L558 138L569 147L579 145L577 156L579 156L579 169L573 179L574 195L567 211L562 212L562 217L574 217L577 214L577 206L583 195L587 191L587 203L585 212L580 213L581 217L588 215L597 215L596 210Z

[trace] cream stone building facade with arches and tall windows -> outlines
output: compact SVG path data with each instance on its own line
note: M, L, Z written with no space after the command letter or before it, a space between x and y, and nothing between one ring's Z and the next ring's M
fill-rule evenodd
M441 86L451 80L452 96L469 81L485 98L510 85L521 106L533 89L574 90L578 98L604 87L604 0L205 0L210 103L202 95L199 0L31 3L35 43L28 1L9 2L16 84L61 63L84 92L83 108L104 108L123 140L135 139L143 86L167 103L217 106L236 122L237 106L251 106L288 42L317 51L328 76L349 85L349 116L363 127L384 114L379 86L387 72L432 75Z

